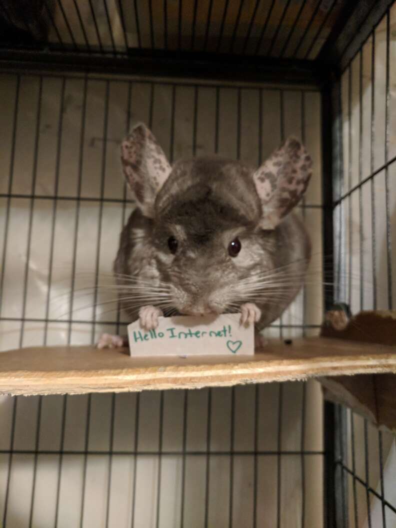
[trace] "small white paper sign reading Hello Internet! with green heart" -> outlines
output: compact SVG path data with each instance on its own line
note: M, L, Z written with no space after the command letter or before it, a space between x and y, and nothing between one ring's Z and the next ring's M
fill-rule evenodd
M159 317L155 330L139 320L128 325L131 356L254 354L254 325L241 325L241 314Z

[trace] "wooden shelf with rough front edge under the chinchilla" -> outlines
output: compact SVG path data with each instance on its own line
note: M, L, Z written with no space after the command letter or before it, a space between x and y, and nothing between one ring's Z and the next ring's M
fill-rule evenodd
M193 389L318 376L396 373L396 347L312 337L254 356L132 358L126 349L33 347L0 353L1 394Z

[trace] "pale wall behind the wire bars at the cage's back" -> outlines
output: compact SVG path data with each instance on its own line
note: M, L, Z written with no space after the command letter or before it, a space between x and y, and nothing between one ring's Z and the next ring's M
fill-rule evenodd
M103 331L125 330L116 302L98 304L112 294L99 289L96 298L92 288L112 280L118 235L133 207L124 200L118 149L129 121L137 120L152 127L173 158L218 152L257 165L282 137L305 140L315 173L299 211L312 234L313 263L305 293L269 333L317 332L318 92L10 74L0 78L0 93L1 350L86 344ZM183 447L194 454L183 456ZM157 516L159 526L173 527L182 497L189 528L203 526L205 504L209 526L228 526L230 511L234 526L251 526L256 515L257 526L273 528L278 514L282 528L322 526L322 395L313 381L1 397L0 449L0 519L5 515L7 528L29 526L30 519L45 528L55 517L59 527L82 518L84 527L119 528L130 526L133 509L136 527L155 526Z

